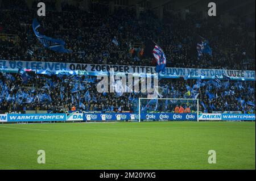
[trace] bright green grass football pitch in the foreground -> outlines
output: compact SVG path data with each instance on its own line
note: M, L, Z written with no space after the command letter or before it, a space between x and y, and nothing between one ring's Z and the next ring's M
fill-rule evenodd
M0 169L255 169L255 122L0 124Z

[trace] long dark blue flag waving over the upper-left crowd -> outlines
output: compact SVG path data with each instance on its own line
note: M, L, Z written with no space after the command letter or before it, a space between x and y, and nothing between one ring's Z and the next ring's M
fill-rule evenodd
M33 27L36 37L44 45L44 47L51 49L55 52L61 52L61 53L71 52L71 50L64 48L65 41L53 39L51 37L47 37L47 36L40 34L40 32L39 32L40 24L38 23L38 20L36 20L36 19L33 20L32 27Z

